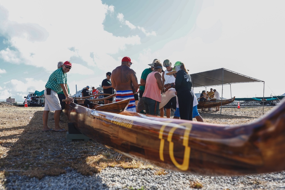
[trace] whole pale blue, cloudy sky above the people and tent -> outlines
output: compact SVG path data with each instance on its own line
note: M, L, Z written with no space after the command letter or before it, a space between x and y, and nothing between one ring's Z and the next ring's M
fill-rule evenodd
M15 6L17 4L17 6ZM2 1L0 100L42 91L70 61L70 94L99 87L125 56L141 73L154 59L189 73L218 68L265 83L215 86L223 98L285 93L285 1ZM198 93L211 87L194 88Z

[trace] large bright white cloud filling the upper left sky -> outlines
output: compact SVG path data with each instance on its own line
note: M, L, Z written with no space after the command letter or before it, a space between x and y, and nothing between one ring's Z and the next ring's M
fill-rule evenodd
M82 61L77 63L81 64L81 68L74 72L82 73L86 68L96 67L98 64L90 54L108 57L109 54L124 50L127 44L140 44L138 36L125 38L104 30L102 23L105 15L108 12L113 13L114 7L102 5L101 1L81 2L80 6L85 7L84 9L78 9L78 3L70 1L60 1L56 6L50 2L33 3L33 6L28 7L19 1L18 6L25 9L17 9L12 2L5 2L1 6L5 7L6 12L5 17L0 18L4 21L0 31L4 34L17 31L7 36L15 50L7 48L0 52L7 62L24 62L52 72L54 65L47 63L56 64L60 60L78 57ZM67 14L68 12L72 14ZM76 51L71 51L72 47Z

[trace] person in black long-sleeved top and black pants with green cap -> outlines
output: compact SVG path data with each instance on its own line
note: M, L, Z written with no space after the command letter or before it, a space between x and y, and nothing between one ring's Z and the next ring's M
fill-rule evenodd
M176 73L175 89L178 97L180 118L192 120L194 94L191 91L191 76L185 68L184 63L177 61L174 64Z

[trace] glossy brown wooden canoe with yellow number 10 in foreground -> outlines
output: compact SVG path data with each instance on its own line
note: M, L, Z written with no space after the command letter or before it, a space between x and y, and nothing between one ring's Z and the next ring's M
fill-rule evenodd
M125 111L129 100L88 109L67 103L76 128L108 148L154 166L197 175L285 170L285 102L250 124L225 126Z

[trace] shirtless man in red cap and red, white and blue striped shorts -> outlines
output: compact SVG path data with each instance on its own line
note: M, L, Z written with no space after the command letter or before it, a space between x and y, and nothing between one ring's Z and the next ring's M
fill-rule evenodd
M130 68L132 64L129 57L124 57L121 66L112 71L111 83L116 90L116 102L130 99L127 111L136 112L134 93L139 85L136 72Z

